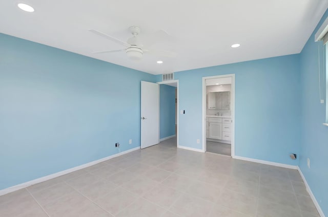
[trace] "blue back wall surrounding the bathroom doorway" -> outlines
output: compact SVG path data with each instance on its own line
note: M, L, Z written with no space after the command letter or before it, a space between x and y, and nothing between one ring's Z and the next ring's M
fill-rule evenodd
M297 165L299 153L299 55L174 73L179 80L179 145L201 149L202 77L235 74L235 154Z

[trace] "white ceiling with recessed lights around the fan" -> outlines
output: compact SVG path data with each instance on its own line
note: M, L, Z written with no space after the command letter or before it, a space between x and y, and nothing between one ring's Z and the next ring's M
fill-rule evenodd
M22 11L17 3L35 12ZM0 32L162 74L299 53L327 7L328 0L2 0ZM135 62L124 52L91 53L124 47L89 29L126 41L133 25L141 27L144 40L158 30L169 33L152 48L178 56L144 54ZM235 43L241 46L232 49ZM162 64L156 63L159 59Z

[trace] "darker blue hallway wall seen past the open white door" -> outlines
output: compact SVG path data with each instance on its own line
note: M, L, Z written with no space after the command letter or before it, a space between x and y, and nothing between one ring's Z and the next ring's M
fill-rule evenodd
M175 135L175 90L174 86L159 85L159 138Z

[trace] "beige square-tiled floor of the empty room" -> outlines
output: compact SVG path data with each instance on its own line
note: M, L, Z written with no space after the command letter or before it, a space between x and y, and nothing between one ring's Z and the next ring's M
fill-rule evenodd
M0 197L0 216L319 216L297 170L174 139Z

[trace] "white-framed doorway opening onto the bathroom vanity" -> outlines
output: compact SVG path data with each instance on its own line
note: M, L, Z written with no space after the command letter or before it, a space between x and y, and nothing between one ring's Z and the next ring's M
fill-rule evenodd
M235 156L235 75L202 79L202 149Z

